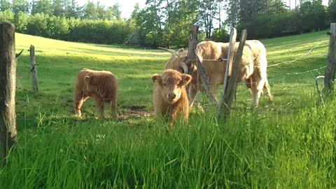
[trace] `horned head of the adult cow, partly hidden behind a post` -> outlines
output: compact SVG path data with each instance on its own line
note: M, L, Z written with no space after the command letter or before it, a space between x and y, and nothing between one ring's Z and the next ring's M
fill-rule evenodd
M181 48L178 52L169 48L159 48L172 54L172 57L168 60L166 69L175 69L181 73L188 73L188 65L185 63L188 57L188 51L183 50L183 48Z

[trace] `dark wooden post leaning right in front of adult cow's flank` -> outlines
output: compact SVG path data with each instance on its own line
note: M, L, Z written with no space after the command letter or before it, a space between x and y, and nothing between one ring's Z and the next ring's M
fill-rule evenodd
M238 46L238 49L235 55L235 61L233 62L233 65L232 65L232 73L231 73L231 76L230 76L230 79L227 85L228 87L226 87L226 90L223 89L223 92L225 93L222 94L221 103L218 106L218 111L217 111L218 116L221 115L222 116L221 118L223 118L224 121L230 115L231 104L232 104L233 97L235 95L235 91L237 88L237 77L239 73L241 55L243 54L243 48L245 45L246 36L247 36L247 32L246 32L246 29L244 29L243 31L241 31L241 38L240 38L239 46ZM234 50L234 46L232 46L232 50Z

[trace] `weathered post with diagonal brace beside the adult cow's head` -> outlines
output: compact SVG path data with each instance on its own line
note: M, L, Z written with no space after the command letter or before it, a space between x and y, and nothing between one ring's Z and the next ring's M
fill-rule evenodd
M204 90L207 94L207 97L209 97L211 102L217 104L217 100L214 97L214 94L212 94L212 92L210 91L207 71L202 66L200 59L198 59L198 57L195 55L195 48L197 45L197 37L198 37L198 26L194 25L190 33L191 34L190 34L190 40L189 40L189 45L188 45L188 57L186 61L186 64L188 65L188 68L189 68L188 72L191 76L193 76L192 82L198 83L200 82L199 77L201 78ZM196 66L197 66L197 72L195 73L193 72L193 65L192 65L193 63L194 64L196 63ZM191 90L198 90L198 89L192 88ZM193 92L193 94L196 94L196 92ZM190 97L190 98L194 99L194 97Z

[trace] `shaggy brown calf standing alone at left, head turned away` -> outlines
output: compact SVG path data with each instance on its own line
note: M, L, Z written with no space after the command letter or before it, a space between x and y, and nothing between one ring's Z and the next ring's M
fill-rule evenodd
M87 68L79 71L73 95L73 103L78 117L82 116L80 108L85 100L92 97L100 118L104 118L104 103L107 102L112 110L112 118L116 119L118 117L117 89L117 79L110 71L94 71Z

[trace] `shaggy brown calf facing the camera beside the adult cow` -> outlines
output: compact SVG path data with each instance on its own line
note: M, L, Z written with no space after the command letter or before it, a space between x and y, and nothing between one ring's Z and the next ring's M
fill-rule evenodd
M156 118L167 118L174 123L177 118L188 120L189 101L186 85L191 76L173 69L167 69L162 75L152 77L155 87L153 90L153 105ZM172 127L172 124L170 125Z

